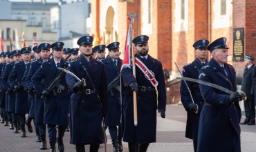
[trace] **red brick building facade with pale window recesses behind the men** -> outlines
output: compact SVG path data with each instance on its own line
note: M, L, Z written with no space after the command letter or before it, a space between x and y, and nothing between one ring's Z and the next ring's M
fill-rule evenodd
M241 76L244 61L232 61L232 30L244 28L244 55L256 57L255 6L256 0L94 0L92 31L98 33L98 44L119 41L122 49L128 26L127 12L136 13L134 35L149 36L149 54L170 71L171 79L179 76L174 61L182 68L194 60L194 41L208 39L211 42L226 37L230 47L228 63L235 67L237 76ZM179 92L179 83L169 83L169 103L179 102L179 93L174 93Z

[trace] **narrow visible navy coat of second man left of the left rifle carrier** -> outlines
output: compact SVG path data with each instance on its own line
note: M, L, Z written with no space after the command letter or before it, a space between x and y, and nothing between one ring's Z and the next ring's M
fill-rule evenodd
M26 64L26 69L25 69L24 75L21 79L21 82L22 82L22 85L23 85L25 91L28 90L28 85L26 83L26 77L28 76L28 70L29 70L30 64L32 62L33 61L30 61L30 62L28 62L28 64ZM29 93L28 93L28 117L35 117L35 97L34 97L34 95L30 95Z

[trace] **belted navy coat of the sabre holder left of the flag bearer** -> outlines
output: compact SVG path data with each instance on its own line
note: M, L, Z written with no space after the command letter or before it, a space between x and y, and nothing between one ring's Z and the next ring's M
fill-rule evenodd
M107 75L104 64L90 58L91 68L89 62L86 61L83 55L70 63L68 70L74 73L80 79L86 79L85 89L93 90L93 85L87 77L82 65L87 69L95 89L99 91L98 99L95 93L86 95L81 93L73 93L71 95L71 111L70 111L70 125L71 125L71 144L90 144L102 143L102 111L109 112L109 98L107 93ZM75 86L77 80L71 75L66 74L66 83L71 91Z

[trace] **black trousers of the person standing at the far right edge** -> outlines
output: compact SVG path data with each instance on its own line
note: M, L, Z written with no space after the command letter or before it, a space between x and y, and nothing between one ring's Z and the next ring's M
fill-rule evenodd
M246 119L250 120L250 122L255 122L255 103L252 99L248 99L244 102L244 110Z

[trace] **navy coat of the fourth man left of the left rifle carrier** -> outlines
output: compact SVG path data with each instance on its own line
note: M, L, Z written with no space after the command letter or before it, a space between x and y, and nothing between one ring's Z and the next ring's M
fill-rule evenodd
M15 62L11 62L10 64L6 64L6 69L3 71L2 76L2 85L3 89L7 91L8 88L11 88L8 84L8 76L12 72L12 68ZM16 93L12 91L10 95L6 95L6 112L15 113L15 100L16 100Z

